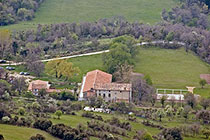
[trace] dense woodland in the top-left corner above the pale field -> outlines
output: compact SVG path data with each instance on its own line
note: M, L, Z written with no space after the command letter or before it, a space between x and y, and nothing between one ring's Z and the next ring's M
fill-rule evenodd
M0 26L31 20L44 0L0 0Z

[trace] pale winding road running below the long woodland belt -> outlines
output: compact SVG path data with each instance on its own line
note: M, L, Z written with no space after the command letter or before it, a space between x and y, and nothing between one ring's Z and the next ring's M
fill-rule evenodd
M164 40L158 40L158 41L151 41L151 42L141 42L137 43L137 46L143 46L143 45L156 45L156 44L174 44L174 45L181 45L185 46L186 44L183 42L177 42L177 41L164 41ZM48 61L53 61L53 60L62 60L62 59L69 59L69 58L75 58L75 57L81 57L81 56L90 56L90 55L96 55L96 54L102 54L102 53L107 53L109 50L104 50L104 51L98 51L98 52L91 52L91 53L86 53L86 54L78 54L78 55L71 55L71 56L64 56L64 57L58 57L58 58L52 58L52 59L45 59L41 60L41 62L48 62ZM17 65L22 65L24 62L19 62L19 63L14 63L14 62L8 62L6 64L0 64L0 66L17 66Z

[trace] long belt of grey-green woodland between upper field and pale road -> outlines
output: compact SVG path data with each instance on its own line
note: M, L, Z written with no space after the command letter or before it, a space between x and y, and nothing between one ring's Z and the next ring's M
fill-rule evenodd
M2 58L22 61L29 53L54 56L59 52L90 52L107 49L95 39L130 35L140 41L166 40L186 43L186 51L192 50L201 59L210 62L209 36L204 29L182 24L160 23L150 26L129 23L122 18L102 19L95 23L39 25L36 30L20 31L13 34L11 47L2 51ZM82 42L92 41L90 44ZM177 46L165 45L165 48ZM2 49L3 46L0 48ZM18 58L18 59L17 59Z

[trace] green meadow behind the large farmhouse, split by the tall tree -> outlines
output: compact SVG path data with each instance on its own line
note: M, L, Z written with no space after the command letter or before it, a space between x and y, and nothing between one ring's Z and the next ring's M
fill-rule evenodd
M103 70L101 55L72 58L69 61L81 70L78 81L90 70ZM154 86L159 88L200 87L200 74L210 72L209 66L193 53L186 53L184 49L169 50L157 47L140 48L134 70L149 74Z

